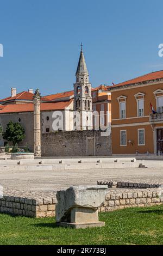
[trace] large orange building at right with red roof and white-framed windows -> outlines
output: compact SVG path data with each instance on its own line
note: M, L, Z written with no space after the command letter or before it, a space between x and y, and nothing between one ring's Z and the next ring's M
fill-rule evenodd
M108 89L112 105L112 154L163 154L163 71Z

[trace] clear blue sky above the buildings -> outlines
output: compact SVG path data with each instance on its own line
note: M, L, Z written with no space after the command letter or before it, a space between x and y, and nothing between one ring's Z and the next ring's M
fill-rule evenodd
M92 87L163 69L162 0L0 0L0 99L73 89L83 51Z

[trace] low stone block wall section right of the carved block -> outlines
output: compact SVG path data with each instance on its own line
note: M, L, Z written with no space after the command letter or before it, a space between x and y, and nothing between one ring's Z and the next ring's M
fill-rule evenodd
M99 209L101 212L114 211L130 207L145 207L163 203L163 193L160 197L161 188L147 190L117 190L109 192L105 202Z

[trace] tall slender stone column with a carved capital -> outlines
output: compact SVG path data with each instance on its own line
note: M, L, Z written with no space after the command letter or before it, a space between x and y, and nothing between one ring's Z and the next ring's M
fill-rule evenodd
M40 93L35 90L34 100L34 156L41 156Z

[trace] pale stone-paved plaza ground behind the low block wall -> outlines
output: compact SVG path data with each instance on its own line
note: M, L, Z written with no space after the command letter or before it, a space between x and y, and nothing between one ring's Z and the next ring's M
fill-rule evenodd
M55 197L58 190L96 185L97 180L163 184L163 168L0 171L5 194L28 198Z

